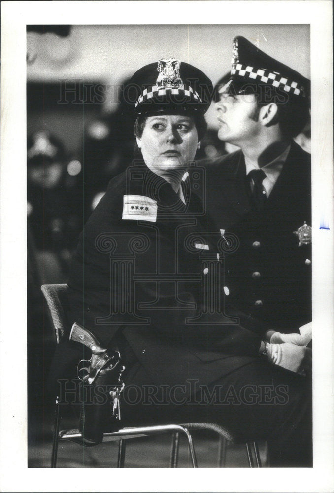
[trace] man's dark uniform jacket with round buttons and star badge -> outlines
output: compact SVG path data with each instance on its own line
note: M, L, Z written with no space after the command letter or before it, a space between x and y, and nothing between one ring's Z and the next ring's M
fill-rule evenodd
M229 301L263 329L295 332L311 321L311 243L295 232L311 225L310 156L292 143L261 212L252 210L241 151L203 162L207 207L216 226L236 235L225 256Z

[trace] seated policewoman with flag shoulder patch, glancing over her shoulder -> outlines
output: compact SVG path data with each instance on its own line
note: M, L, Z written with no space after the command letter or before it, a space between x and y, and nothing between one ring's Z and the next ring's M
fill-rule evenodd
M303 375L311 350L268 345L247 316L235 312L238 322L221 308L218 235L194 193L200 168L191 166L206 129L211 81L192 65L162 59L137 70L130 83L139 89L137 158L110 181L80 235L68 281L68 332L51 379L75 375L86 349L69 340L78 322L124 357L118 426L229 423L238 438L268 440L272 466L310 466L311 406ZM207 292L217 296L214 311ZM260 395L263 386L272 388L270 402ZM246 387L253 397L243 395ZM217 389L218 401L205 400ZM85 439L95 443L85 426Z

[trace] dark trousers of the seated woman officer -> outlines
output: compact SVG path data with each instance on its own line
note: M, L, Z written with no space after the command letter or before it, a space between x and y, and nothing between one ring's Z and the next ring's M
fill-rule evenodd
M267 440L271 467L312 467L310 378L259 358L209 386L197 379L185 386L156 386L138 363L126 382L125 425L219 423L236 441Z

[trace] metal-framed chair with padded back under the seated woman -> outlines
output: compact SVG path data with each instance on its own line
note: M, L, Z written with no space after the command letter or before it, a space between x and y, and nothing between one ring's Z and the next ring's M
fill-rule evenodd
M52 323L55 330L55 336L57 344L65 332L66 327L66 308L68 306L67 300L67 284L43 284L41 290L47 302L50 310ZM87 444L83 443L82 434L78 429L60 430L61 412L59 397L56 398L56 412L55 412L55 424L53 430L53 443L52 443L52 456L51 467L57 466L57 453L58 444L62 440L70 440L75 443L79 443L83 446ZM101 443L118 440L118 459L117 467L124 467L125 463L125 440L130 438L137 438L142 436L157 435L162 433L172 433L172 445L170 454L170 467L177 467L178 463L178 451L179 451L179 437L183 434L188 442L190 459L193 467L197 467L197 459L193 440L190 431L193 430L211 430L219 435L218 446L218 467L225 466L226 460L226 445L227 442L233 442L234 437L230 431L217 423L175 423L164 424L156 426L139 426L139 427L127 427L121 428L116 432L103 433L103 439ZM97 445L94 445L97 446ZM261 460L259 454L258 444L255 441L246 442L246 450L248 463L250 467L261 467Z

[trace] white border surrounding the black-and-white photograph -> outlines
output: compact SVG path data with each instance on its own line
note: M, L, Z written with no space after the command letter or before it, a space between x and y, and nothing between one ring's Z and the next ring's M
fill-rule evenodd
M4 1L1 13L1 490L331 491L334 484L331 1ZM112 469L111 473L99 469L98 475L87 469L80 472L28 469L26 25L220 23L310 24L311 27L314 466L276 471L243 469L242 474L237 469ZM293 43L293 39L286 42Z

